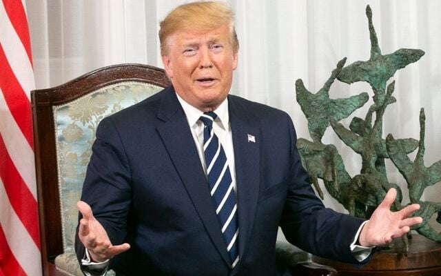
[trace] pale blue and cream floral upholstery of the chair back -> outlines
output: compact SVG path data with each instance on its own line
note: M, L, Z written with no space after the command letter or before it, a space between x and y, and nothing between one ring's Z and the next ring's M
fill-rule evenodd
M64 249L64 253L55 259L57 269L71 275L83 275L74 252L78 221L76 202L81 197L96 127L104 117L132 106L162 89L150 83L127 81L100 88L75 101L53 107ZM112 273L110 271L107 275Z

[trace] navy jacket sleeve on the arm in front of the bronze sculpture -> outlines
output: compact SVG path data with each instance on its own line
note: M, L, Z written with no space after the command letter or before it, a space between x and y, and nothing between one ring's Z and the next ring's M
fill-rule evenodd
M296 132L288 119L291 135L291 172L280 227L288 242L314 255L360 264L350 245L365 219L325 208L309 183L296 148ZM365 259L365 263L369 258Z

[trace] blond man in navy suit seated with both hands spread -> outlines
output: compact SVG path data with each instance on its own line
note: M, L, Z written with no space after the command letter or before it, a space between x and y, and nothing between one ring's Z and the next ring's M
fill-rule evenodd
M86 273L275 275L278 226L315 255L362 264L371 247L422 221L407 218L417 204L389 210L396 190L369 221L322 205L289 116L228 95L239 46L225 3L179 6L159 37L172 86L103 119L96 132L78 204L76 253ZM220 202L213 194L223 180L212 186L207 161L212 141L228 179Z

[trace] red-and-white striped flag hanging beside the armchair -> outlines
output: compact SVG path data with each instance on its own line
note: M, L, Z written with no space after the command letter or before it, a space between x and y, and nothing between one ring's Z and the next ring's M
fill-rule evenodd
M0 0L0 276L41 275L25 0Z

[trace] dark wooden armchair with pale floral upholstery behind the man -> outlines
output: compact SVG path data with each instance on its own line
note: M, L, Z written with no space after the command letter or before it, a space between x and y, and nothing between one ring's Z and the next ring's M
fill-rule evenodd
M169 85L162 69L121 64L32 91L43 275L83 275L74 252L76 202L99 121ZM278 245L278 255L285 264L311 264L309 254L288 244Z

